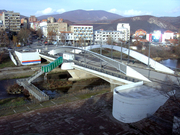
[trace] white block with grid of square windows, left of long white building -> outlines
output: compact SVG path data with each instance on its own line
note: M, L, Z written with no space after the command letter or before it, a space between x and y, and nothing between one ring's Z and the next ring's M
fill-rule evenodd
M70 25L70 31L74 35L74 42L84 41L87 44L93 41L93 26L92 25Z

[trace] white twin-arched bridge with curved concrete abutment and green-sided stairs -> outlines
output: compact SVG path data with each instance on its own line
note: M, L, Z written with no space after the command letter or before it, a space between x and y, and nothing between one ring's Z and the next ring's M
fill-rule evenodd
M62 46L50 50L48 53L39 53L39 55L50 62L56 61L59 55L63 55L61 69L67 70L72 76L71 79L97 76L108 81L111 84L111 91L113 91L112 113L119 121L125 123L139 121L146 118L149 114L152 115L167 101L168 98L166 96L159 94L154 89L147 87L141 90L141 86L143 86L144 82L151 83L152 78L147 77L147 75L144 76L122 61L117 61L90 51L91 49L101 47L114 49L127 54L127 48L112 45L93 45L79 48ZM131 57L138 59L144 64L150 63L149 66L154 69L154 72L157 71L160 74L164 72L166 73L165 76L170 74L173 76L174 71L171 69L135 51L130 50L129 52L128 54L130 54ZM147 62L147 60L149 62ZM44 72L50 72L59 64L56 64L56 66L53 64L53 66L47 65L42 67L41 71L37 72L37 75L30 77L26 81L28 84L31 84L32 80ZM137 89L133 90L133 88ZM142 110L142 112L140 110Z

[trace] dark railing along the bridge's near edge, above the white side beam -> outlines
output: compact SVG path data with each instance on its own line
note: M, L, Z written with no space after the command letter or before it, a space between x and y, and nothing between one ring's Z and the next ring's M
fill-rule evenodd
M140 80L138 80L136 78L128 77L128 76L126 76L124 74L121 74L120 72L113 72L113 71L110 71L110 70L107 70L107 69L101 69L101 68L98 68L98 67L89 66L89 64L81 63L81 62L76 61L76 60L74 60L74 63L76 65L79 65L79 66L82 66L82 67L85 67L85 68L88 68L88 69L92 69L92 70L95 70L95 71L98 71L98 72L101 72L101 73L105 73L105 74L108 74L108 75L111 75L111 76L114 76L114 77L118 77L118 78L121 78L121 79L125 79L125 80L131 81L131 82L139 82L140 81Z

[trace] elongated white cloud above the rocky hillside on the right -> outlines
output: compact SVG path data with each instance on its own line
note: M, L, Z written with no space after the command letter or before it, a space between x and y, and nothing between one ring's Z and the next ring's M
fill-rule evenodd
M134 9L121 11L121 10L117 10L113 8L113 9L110 9L109 12L116 13L122 16L151 15L151 12L140 11L140 10L138 11Z

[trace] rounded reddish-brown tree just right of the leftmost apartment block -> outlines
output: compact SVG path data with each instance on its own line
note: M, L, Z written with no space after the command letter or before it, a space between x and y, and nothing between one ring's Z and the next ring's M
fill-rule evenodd
M27 43L30 36L30 31L27 28L22 28L18 33L18 39L21 43Z

